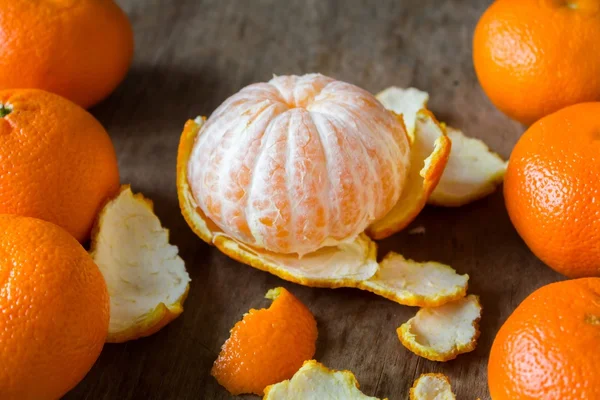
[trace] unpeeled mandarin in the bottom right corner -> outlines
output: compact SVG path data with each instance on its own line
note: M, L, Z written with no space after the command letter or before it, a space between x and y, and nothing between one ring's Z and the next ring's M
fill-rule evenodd
M527 297L490 353L494 400L600 399L600 278L553 283Z

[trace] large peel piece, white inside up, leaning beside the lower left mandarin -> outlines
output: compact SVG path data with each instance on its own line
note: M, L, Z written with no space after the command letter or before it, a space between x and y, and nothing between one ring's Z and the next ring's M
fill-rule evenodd
M107 342L149 336L183 312L190 277L152 202L121 187L92 232L90 255L110 295Z

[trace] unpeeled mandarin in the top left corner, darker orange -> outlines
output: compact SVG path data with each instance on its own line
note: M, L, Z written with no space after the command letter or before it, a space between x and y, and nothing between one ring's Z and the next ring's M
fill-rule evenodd
M107 97L133 56L112 0L11 0L0 8L0 89L37 88L84 108Z

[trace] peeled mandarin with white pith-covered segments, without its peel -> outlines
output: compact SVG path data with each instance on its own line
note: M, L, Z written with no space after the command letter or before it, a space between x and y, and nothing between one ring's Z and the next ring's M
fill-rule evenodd
M217 108L193 143L187 178L229 237L304 255L352 241L392 209L409 146L401 120L363 89L279 76Z

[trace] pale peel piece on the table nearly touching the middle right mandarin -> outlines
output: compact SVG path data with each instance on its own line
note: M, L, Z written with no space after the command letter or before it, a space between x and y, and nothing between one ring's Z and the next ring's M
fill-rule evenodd
M459 207L493 193L504 180L507 162L481 140L451 127L452 152L429 204Z

